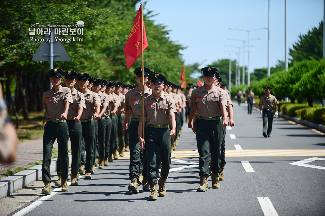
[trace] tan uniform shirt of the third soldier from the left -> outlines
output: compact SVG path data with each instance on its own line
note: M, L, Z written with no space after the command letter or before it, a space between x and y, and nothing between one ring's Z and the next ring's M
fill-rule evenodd
M81 120L87 120L94 117L95 106L97 104L101 106L100 97L97 93L87 89L84 96L85 96L86 110L83 111L80 118Z

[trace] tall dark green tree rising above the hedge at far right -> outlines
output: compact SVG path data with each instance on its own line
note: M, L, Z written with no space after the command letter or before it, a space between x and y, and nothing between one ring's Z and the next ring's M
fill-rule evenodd
M289 49L292 63L323 57L323 28L324 22L321 21L318 28L314 27L307 34L298 36L298 42L292 44L292 49Z

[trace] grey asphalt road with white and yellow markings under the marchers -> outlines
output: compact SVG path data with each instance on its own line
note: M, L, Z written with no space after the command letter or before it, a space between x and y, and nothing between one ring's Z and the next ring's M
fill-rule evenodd
M142 186L138 194L128 191L126 153L96 170L92 179L69 186L69 192L53 187L50 197L42 196L43 184L35 182L0 200L0 215L325 215L324 134L279 118L276 124L274 118L271 138L264 138L258 111L248 115L242 103L234 104L234 113L219 189L212 188L209 177L209 191L197 192L196 139L184 123L165 197L149 201L150 191Z

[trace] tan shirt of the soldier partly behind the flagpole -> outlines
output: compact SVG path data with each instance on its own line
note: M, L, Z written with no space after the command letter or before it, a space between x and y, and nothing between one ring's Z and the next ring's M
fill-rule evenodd
M152 90L146 87L144 90L144 98L149 97L152 94ZM142 106L142 91L139 91L138 87L129 90L125 94L124 112L131 110L131 118L140 118L137 115L138 107Z

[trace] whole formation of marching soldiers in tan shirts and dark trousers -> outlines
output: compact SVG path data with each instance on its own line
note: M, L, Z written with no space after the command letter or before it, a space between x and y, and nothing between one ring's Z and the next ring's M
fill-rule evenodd
M186 95L183 89L166 80L165 76L144 67L135 69L137 85L120 81L91 78L59 68L48 74L53 85L43 93L43 108L47 122L43 136L42 194L51 194L50 161L53 143L58 141L58 181L61 191L68 191L68 140L71 141L71 185L78 185L79 174L91 179L95 166L103 169L113 159L130 151L128 190L138 193L151 190L149 200L166 194L165 182L183 125L186 108L188 127L196 134L199 158L200 186L208 191L208 177L212 188L219 188L224 180L226 126L234 126L230 93L220 88L222 79L214 67L204 67L204 85ZM66 87L61 86L64 83ZM143 87L142 85L146 83ZM78 85L79 91L75 89ZM142 111L142 94L144 110ZM228 118L229 117L229 121ZM143 131L142 119L145 118ZM192 123L193 120L193 123ZM144 138L142 134L144 133ZM160 179L159 167L161 166ZM159 188L156 188L158 183Z

